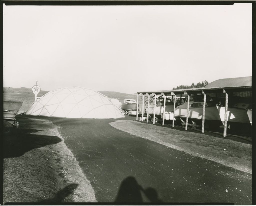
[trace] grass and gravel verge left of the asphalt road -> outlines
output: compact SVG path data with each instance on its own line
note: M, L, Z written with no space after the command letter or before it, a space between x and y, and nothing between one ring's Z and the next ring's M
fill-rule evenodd
M3 202L97 202L57 127L46 119L18 118L20 128L4 137Z

